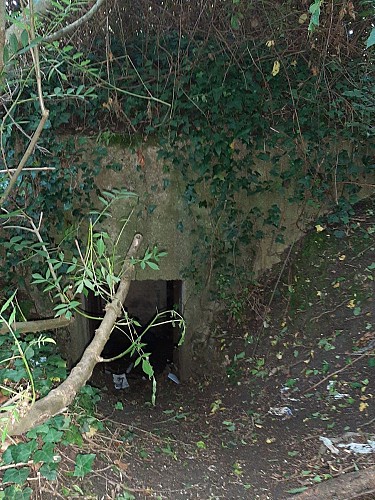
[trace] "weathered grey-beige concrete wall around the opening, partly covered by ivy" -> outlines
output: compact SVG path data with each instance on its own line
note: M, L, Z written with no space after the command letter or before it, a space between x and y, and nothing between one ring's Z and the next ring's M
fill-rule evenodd
M106 165L121 165L121 169L114 171ZM267 179L270 166L265 162L257 165L260 175ZM282 166L281 166L282 168ZM104 229L115 240L121 231L123 221L126 221L122 233L118 252L125 256L135 233L140 232L143 237L143 250L154 245L160 250L166 250L168 256L160 262L160 270L154 271L148 267L142 270L139 266L136 271L136 280L182 280L181 312L187 324L187 335L184 345L179 352L180 376L187 379L194 372L200 371L205 364L205 359L214 359L215 346L211 342L211 325L217 314L217 305L209 300L205 281L209 274L210 263L203 263L206 269L200 274L201 278L186 273L186 268L192 260L192 252L196 241L193 230L196 227L196 217L200 224L206 221L210 228L216 222L211 221L208 212L204 209L193 207L193 216L187 211L183 200L184 183L180 174L166 167L158 159L158 149L155 146L143 145L136 152L120 146L108 147L108 156L105 158L101 174L97 178L100 190L126 189L138 194L137 198L129 198L116 202L111 209L111 218L105 222ZM259 229L265 232L264 238L258 240L252 247L244 249L242 254L248 268L260 274L280 260L280 256L291 243L298 240L303 234L306 224L323 213L324 206L308 206L306 203L297 206L290 204L288 193L280 191L263 192L248 197L239 195L239 203L248 210L258 206L263 212L277 204L281 208L281 224L285 226L284 242L275 242L275 228L263 226L258 221ZM255 228L256 229L256 228ZM246 257L248 256L248 257ZM147 302L155 301L154 292L144 297ZM130 302L139 301L137 294ZM79 335L84 334L84 328L79 326L81 334L75 336L76 344ZM87 333L85 334L87 335ZM82 337L82 345L87 341ZM79 350L75 346L75 351ZM198 364L198 366L197 366Z

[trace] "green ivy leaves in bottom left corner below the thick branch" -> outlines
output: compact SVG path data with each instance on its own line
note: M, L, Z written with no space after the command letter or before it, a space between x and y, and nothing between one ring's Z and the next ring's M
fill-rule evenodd
M92 471L95 453L80 453L84 435L90 436L103 430L102 422L95 416L98 391L84 387L75 400L69 414L57 415L30 430L23 441L10 444L2 454L1 499L33 498L33 490L27 486L36 474L48 481L56 481L61 474L60 466L66 447L76 450L70 469L64 474L75 480ZM77 451L78 450L78 451Z

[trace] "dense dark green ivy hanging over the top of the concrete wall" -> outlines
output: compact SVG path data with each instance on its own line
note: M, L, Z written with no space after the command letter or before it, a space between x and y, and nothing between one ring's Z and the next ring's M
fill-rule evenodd
M344 21L359 31L368 25L365 19L359 25L348 10ZM293 23L295 17L289 28ZM235 33L233 22L231 26ZM108 49L98 38L87 56L72 45L48 46L43 72L50 121L30 165L55 170L25 173L13 202L26 199L34 217L43 210L61 234L89 207L105 155L102 145L119 136L129 142L134 136L153 136L168 165L185 179L184 197L197 219L200 241L190 266L195 275L202 262L227 267L239 243L262 238L265 226L273 229L276 241L283 241L280 207L264 210L251 201L258 193L284 193L290 203L310 207L330 199L336 212L347 217L362 175L373 168L373 63L364 49L367 32L357 40L352 35L350 57L343 62L337 39L322 57L317 32L305 50L291 50L287 28L256 44L245 38L233 44L231 34L224 45L220 37L192 39L172 31L154 40L152 33L137 34L125 53L118 39ZM24 104L9 116L26 132L35 128L32 85L24 82ZM84 139L61 137L77 129L98 139L90 158ZM7 148L8 154L22 150L17 141L24 139L19 133L10 136L8 144L14 147ZM249 199L249 209L238 203L243 197ZM201 207L217 221L210 231L200 224Z

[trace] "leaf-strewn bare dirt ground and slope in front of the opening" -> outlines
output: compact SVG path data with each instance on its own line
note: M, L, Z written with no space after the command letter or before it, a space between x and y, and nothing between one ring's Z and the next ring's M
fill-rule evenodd
M212 376L161 377L153 407L149 381L117 391L105 375L106 430L63 450L67 464L74 452L95 453L94 471L75 485L65 477L65 489L46 484L46 495L298 498L374 466L373 202L350 224L312 228L272 276L232 297L213 327L222 362ZM340 488L310 498L375 498L375 473L354 496Z

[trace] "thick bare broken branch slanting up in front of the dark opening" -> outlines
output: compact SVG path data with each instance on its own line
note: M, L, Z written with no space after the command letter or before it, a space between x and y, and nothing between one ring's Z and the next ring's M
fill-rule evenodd
M123 303L129 292L131 280L134 277L134 257L142 242L142 236L136 234L125 258L125 272L121 278L118 290L111 303L106 306L105 316L95 332L95 336L86 348L81 361L75 366L68 378L46 397L36 401L31 407L23 408L21 419L18 422L8 422L6 433L18 435L39 425L49 418L63 412L73 401L79 389L91 377L95 365L101 361L100 354L111 334L117 318L122 314ZM2 426L4 423L2 422ZM0 432L4 429L0 428Z

